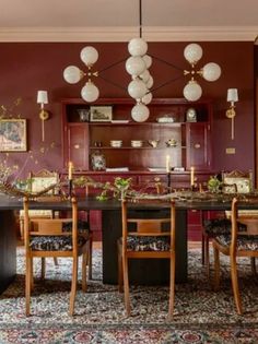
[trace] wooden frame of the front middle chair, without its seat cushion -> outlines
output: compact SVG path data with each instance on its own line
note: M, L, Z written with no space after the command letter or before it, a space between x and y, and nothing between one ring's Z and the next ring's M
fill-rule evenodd
M144 203L143 201L139 201ZM145 201L146 202L146 201ZM146 204L150 205L150 202ZM121 202L122 213L122 237L118 240L118 288L125 294L125 307L126 313L130 316L130 300L129 300L129 275L128 275L128 261L130 259L161 259L166 258L171 260L169 269L169 306L168 306L168 319L172 319L174 312L175 303L175 203L171 201L171 216L169 218L130 218L128 216L127 200ZM169 223L169 230L162 232L162 224ZM129 232L128 225L134 224L137 226L136 232ZM167 251L132 251L127 248L128 236L168 236L169 237L169 250Z

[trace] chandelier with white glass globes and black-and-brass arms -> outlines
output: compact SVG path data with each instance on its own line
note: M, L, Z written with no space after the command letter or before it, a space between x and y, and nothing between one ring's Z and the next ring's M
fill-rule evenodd
M221 75L221 68L218 63L209 62L201 69L197 69L197 63L202 57L202 48L196 43L187 45L184 50L184 57L190 63L189 70L184 70L168 61L162 60L159 57L148 55L148 43L142 38L142 0L139 0L139 37L132 38L128 44L128 51L130 54L129 58L117 61L101 71L93 71L94 63L98 59L98 52L94 47L86 46L81 50L80 54L81 60L86 67L86 71L82 71L75 66L69 66L63 71L63 78L68 83L75 84L86 76L87 80L85 85L81 90L81 97L87 103L93 103L99 96L99 91L95 85L93 78L98 76L104 79L101 75L103 71L106 71L107 69L126 61L126 71L131 75L131 82L127 88L128 94L130 97L136 99L136 105L131 110L131 117L134 121L145 121L150 115L150 110L146 105L151 103L152 93L155 90L161 88L168 83L178 80L179 78L190 76L190 80L183 90L183 94L187 100L196 102L202 95L202 88L196 76L202 76L209 82L216 81ZM181 75L153 88L154 81L149 69L152 66L152 61L155 59L160 62L180 70ZM125 88L115 82L110 82L106 79L104 80L115 86L118 86L119 88Z

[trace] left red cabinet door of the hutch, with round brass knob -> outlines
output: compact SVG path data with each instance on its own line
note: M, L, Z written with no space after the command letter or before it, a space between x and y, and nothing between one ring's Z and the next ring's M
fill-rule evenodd
M89 124L68 126L68 159L74 167L89 169Z

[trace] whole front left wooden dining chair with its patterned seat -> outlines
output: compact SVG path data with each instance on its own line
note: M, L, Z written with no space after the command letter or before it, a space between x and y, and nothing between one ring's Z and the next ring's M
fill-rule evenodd
M72 258L72 281L69 315L73 316L78 283L78 258L82 256L82 289L86 292L86 263L89 260L89 232L78 228L78 203L71 200L72 218L30 218L30 202L24 199L24 239L25 239L25 298L26 316L31 313L33 284L33 260L36 257ZM71 226L72 224L72 226ZM71 228L72 227L72 228Z

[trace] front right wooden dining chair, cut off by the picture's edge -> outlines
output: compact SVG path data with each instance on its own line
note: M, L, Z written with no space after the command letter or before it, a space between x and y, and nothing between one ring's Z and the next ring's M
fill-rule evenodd
M232 288L235 299L237 313L243 313L242 299L238 287L237 264L238 257L258 257L258 229L257 226L248 229L248 220L244 221L247 230L241 232L237 223L242 221L237 215L238 201L236 198L232 201L231 210L231 233L219 235L213 239L214 250L214 287L219 288L220 284L220 252L230 257ZM254 229L255 228L255 229Z

